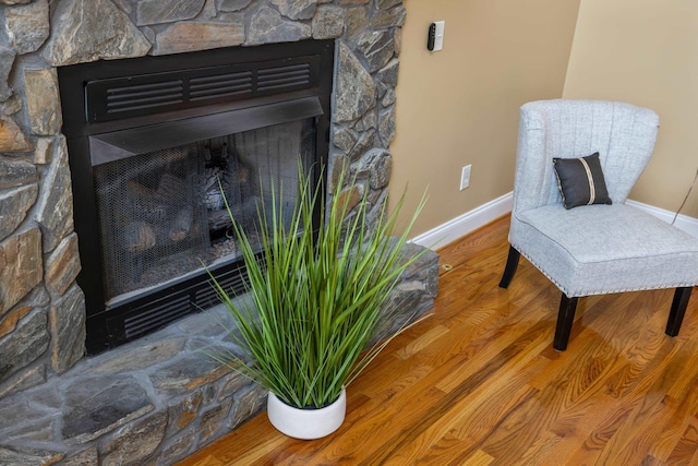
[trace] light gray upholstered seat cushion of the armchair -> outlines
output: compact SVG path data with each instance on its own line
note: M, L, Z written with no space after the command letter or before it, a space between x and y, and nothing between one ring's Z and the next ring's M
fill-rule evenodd
M570 298L698 285L698 238L626 204L519 212L509 241Z

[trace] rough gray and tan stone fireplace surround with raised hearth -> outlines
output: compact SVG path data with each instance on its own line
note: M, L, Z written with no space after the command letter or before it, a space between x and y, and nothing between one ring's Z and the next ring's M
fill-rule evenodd
M0 0L0 463L172 464L254 415L265 397L196 350L230 343L196 315L84 357L77 277L94 251L79 241L73 206L94 201L73 187L62 117L72 103L61 105L61 70L332 41L329 123L320 134L327 187L350 166L359 183L342 195L356 202L368 191L375 219L393 164L405 17L401 0ZM231 144L210 140L204 151ZM170 171L168 182L181 182ZM125 183L136 193L160 188L141 178ZM405 277L406 314L431 308L436 275L435 254L426 254Z

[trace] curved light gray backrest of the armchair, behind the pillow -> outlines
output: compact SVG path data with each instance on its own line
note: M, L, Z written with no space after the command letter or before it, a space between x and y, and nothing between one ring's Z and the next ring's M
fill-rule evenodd
M609 195L624 203L649 162L659 117L603 100L538 100L521 106L514 212L561 202L553 157L599 153Z

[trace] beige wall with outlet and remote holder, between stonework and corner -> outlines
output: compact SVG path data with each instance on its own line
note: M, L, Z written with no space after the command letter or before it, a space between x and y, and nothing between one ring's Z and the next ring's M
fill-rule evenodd
M599 0L601 1L601 0ZM406 0L390 201L426 187L413 236L512 191L518 108L562 96L579 0ZM426 50L432 21L444 50ZM459 191L471 164L470 188Z

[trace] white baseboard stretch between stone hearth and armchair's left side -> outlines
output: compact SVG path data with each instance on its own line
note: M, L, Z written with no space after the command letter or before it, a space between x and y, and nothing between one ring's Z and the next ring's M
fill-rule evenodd
M512 212L513 193L504 194L493 201L488 202L470 212L446 222L436 228L423 232L411 239L411 242L426 248L443 248L471 231L496 220L503 215Z

